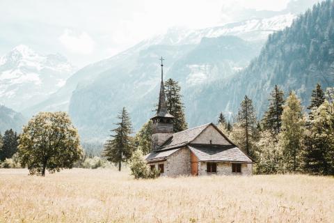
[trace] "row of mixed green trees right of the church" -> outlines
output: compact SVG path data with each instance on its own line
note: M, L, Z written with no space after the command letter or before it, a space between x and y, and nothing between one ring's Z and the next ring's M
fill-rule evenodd
M294 91L287 98L279 86L269 96L260 121L246 95L232 128L223 113L218 126L255 161L256 174L308 173L334 175L334 94L317 84L308 114Z

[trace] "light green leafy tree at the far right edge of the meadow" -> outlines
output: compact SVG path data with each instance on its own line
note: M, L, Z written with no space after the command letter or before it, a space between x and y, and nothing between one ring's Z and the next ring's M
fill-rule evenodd
M334 175L334 103L325 100L312 113L303 155L304 169L309 173Z

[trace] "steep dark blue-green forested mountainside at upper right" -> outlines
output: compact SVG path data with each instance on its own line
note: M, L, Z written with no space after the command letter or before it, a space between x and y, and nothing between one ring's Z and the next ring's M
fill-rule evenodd
M188 100L210 107L205 116L204 109L194 107L198 112L191 113L189 121L209 121L221 111L236 114L244 95L253 100L260 118L275 84L285 95L296 91L305 108L317 83L324 89L334 86L334 3L329 0L315 5L289 28L269 36L260 56L228 82L222 80L185 93Z

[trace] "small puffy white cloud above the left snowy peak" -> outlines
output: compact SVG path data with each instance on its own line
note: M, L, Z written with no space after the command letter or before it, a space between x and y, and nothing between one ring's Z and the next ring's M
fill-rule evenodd
M71 29L65 29L58 40L74 54L91 54L95 48L95 41L86 32L75 33Z

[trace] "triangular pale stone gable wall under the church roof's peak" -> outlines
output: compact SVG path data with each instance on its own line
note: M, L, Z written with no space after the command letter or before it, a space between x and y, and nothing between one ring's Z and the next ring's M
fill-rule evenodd
M202 132L192 144L220 144L220 145L230 145L230 143L219 133L216 128L210 125L204 132Z

